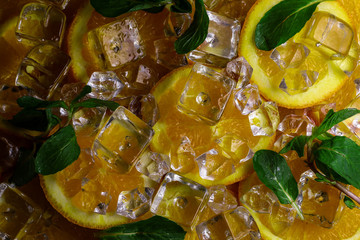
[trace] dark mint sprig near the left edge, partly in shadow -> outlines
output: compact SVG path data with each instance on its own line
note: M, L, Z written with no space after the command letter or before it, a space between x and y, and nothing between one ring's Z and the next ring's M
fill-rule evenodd
M32 151L21 151L11 182L17 186L24 185L36 174L54 174L78 159L80 147L76 141L75 130L70 124L74 113L80 108L105 106L115 110L119 107L116 102L100 99L81 101L90 92L91 87L85 86L69 105L64 101L45 101L30 96L17 100L23 109L9 122L18 128L42 134L34 139L35 146ZM53 113L53 109L59 107L68 112L65 124L62 124L61 119ZM50 132L54 133L49 137Z

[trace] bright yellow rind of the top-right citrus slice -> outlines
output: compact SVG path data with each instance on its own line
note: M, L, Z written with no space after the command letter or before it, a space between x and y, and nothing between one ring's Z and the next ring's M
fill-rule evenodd
M279 106L287 108L305 108L324 102L327 98L340 90L345 82L349 80L348 76L334 62L320 57L320 62L326 61L324 66L328 70L327 74L322 78L319 78L313 86L307 89L307 91L294 95L289 95L280 89L279 80L281 79L278 81L272 80L271 77L269 77L270 74L266 73L261 67L261 64L259 64L260 61L263 60L261 59L262 56L259 55L259 52L264 51L258 50L255 46L255 28L261 17L279 2L280 0L258 1L251 8L240 35L239 55L243 56L253 67L254 71L251 80L258 85L262 96L275 101ZM336 1L320 3L316 11L330 12L345 22L351 23L341 4ZM305 28L295 35L294 39L301 39L303 31L305 31ZM269 54L270 53L266 52L264 56L268 57ZM274 65L276 66L276 64Z

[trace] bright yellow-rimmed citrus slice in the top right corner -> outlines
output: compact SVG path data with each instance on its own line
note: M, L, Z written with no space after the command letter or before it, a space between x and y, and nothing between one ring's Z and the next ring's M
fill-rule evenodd
M351 79L340 69L336 61L330 60L330 57L320 53L315 44L312 46L306 43L303 36L307 27L304 27L302 31L289 40L303 43L310 49L309 56L295 69L319 73L316 82L305 91L291 93L292 95L283 91L279 85L284 76L287 76L288 79L294 78L294 75L291 75L294 69L280 70L277 64L270 59L271 51L261 51L255 46L254 35L258 22L269 9L279 2L280 0L260 0L252 7L240 35L239 54L244 56L253 67L254 72L251 80L258 85L263 97L287 108L305 108L323 103L338 93L344 84ZM355 29L347 12L337 1L320 3L316 12L331 13ZM351 51L356 51L356 43L352 44Z

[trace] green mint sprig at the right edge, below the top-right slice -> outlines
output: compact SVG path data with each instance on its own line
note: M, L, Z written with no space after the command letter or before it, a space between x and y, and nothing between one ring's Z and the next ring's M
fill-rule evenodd
M289 176L291 171L284 166L286 161L280 154L295 150L299 157L303 157L306 151L307 159L305 162L316 174L316 181L325 182L336 187L360 204L360 198L343 186L343 184L349 184L360 189L360 146L347 137L332 136L327 133L334 125L359 113L360 110L354 108L343 109L338 112L330 110L320 126L313 129L311 136L295 137L287 143L280 153L269 150L256 152L253 162L259 179L273 190L281 203L284 194L291 196L289 199L293 199L298 193L295 193L294 180ZM264 168L267 168L266 172ZM274 181L272 175L280 171L279 169L284 172L285 177L277 174L279 186L276 186L271 183ZM284 188L283 186L291 186L293 188L291 193L288 190L290 187ZM351 205L348 199L346 205Z

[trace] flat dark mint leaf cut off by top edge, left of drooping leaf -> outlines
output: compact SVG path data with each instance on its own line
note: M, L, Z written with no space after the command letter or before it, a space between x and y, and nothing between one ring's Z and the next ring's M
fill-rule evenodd
M172 0L90 0L90 3L104 17L117 17L128 12L161 7L172 3Z

